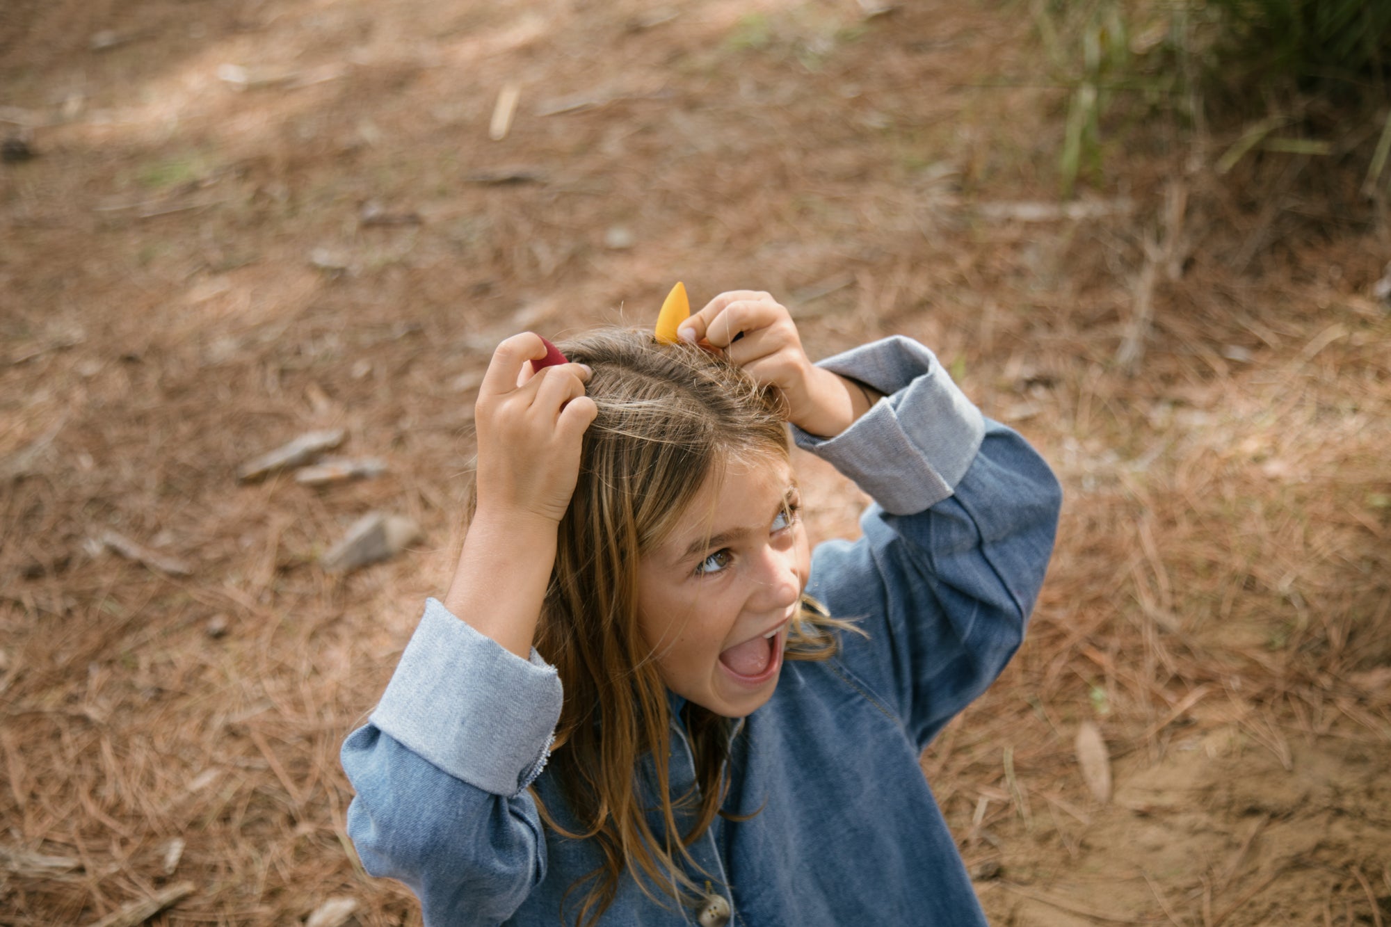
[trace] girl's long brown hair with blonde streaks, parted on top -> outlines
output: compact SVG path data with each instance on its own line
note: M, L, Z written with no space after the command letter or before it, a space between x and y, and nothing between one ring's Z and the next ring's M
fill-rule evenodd
M586 431L579 483L561 521L536 649L565 688L551 764L581 830L559 827L544 805L541 814L552 830L594 839L601 850L600 869L572 887L590 882L576 916L590 924L612 903L625 871L654 901L650 885L669 887L670 902L687 901L696 887L683 863L698 870L687 848L715 820L727 786L721 778L730 722L687 704L697 793L672 800L670 711L638 632L638 558L679 523L707 476L726 464L787 459L789 443L776 391L707 351L619 328L561 349L593 369L587 394L598 416ZM810 600L800 611L787 658L833 654L839 639L832 629L844 622ZM644 759L652 771L647 789L637 779ZM652 809L643 796L651 792L661 834L645 816ZM677 806L694 810L684 834Z

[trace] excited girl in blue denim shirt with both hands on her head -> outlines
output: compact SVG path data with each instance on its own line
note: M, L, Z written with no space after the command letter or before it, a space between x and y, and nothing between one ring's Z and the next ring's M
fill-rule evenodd
M908 338L814 366L744 291L680 338L498 347L458 572L344 745L363 866L427 924L985 924L918 756L1020 644L1052 472ZM858 541L808 551L787 422Z

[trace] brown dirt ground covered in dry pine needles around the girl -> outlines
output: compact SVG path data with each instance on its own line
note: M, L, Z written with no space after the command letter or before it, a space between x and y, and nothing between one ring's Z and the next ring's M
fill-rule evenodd
M0 131L38 153L0 164L0 923L96 921L185 878L152 923L298 921L334 895L419 923L356 869L337 749L448 575L470 374L520 328L645 322L676 278L697 301L772 291L814 356L918 337L1064 480L1032 637L924 756L995 923L1391 923L1391 319L1369 295L1388 241L1356 196L1374 132L1217 177L1239 125L1185 173L1189 136L1150 114L1084 192L1129 210L1000 217L1054 198L1063 135L1024 10L0 11ZM470 180L513 168L538 180ZM1191 256L1155 277L1129 376L1173 178ZM236 483L327 426L389 473ZM808 479L819 530L853 530L854 491ZM376 508L426 541L320 571ZM107 529L192 575L102 554Z

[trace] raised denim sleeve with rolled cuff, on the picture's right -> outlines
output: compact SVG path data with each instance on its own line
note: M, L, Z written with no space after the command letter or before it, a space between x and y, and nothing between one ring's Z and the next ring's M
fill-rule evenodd
M1008 663L1047 569L1061 490L1047 464L985 419L922 345L878 341L822 362L885 398L829 440L794 430L874 504L857 541L812 555L807 592L867 637L842 665L921 747Z

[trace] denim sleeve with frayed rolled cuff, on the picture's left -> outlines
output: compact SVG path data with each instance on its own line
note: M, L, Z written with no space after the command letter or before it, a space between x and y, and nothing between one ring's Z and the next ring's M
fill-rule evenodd
M548 757L561 682L440 601L426 612L369 722L344 743L356 791L348 835L373 876L405 882L427 924L498 924L545 878L526 792Z

